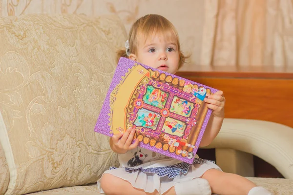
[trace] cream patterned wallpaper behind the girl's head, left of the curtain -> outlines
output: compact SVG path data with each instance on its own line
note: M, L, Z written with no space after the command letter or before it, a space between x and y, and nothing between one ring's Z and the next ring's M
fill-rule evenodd
M0 0L1 16L31 13L73 13L87 16L117 14L126 30L141 16L160 14L178 30L182 49L192 53L192 63L200 61L203 0ZM182 22L184 21L184 22Z

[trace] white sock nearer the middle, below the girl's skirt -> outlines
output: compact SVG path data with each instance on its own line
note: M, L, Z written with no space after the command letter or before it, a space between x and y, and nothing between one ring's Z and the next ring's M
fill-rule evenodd
M176 195L211 195L209 182L203 178L176 183L174 188Z

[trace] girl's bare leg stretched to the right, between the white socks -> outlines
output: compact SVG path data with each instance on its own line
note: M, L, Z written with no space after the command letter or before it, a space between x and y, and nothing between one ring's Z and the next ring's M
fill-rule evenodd
M248 195L256 185L243 176L209 169L202 178L209 181L211 192L219 195Z

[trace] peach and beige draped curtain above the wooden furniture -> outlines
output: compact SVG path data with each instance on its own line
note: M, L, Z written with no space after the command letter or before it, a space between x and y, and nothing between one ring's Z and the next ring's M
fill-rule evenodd
M293 0L205 0L201 65L293 66Z

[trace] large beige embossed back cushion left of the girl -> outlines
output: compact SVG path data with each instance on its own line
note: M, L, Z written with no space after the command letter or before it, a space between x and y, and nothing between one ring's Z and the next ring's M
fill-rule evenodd
M94 126L125 41L116 16L0 18L7 195L93 183L117 166Z

